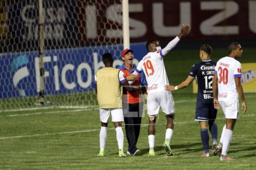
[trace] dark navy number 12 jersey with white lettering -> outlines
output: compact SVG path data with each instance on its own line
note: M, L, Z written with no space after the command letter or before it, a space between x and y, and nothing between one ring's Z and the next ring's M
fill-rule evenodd
M215 66L216 62L212 60L202 60L192 66L189 77L197 76L197 102L213 103L212 80Z

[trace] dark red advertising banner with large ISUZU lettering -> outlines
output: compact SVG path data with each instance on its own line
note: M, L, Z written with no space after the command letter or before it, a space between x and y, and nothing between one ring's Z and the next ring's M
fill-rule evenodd
M97 1L92 4L94 2ZM99 35L109 40L122 37L122 4L120 1L107 2L109 4L98 4L94 8L87 8L90 4L80 2L78 27L82 42L99 40ZM86 13L86 8L90 13ZM180 32L182 24L191 25L187 39L254 40L255 9L255 0L129 0L130 40L170 40ZM112 14L115 11L117 17L114 20L110 19L110 11ZM89 27L86 26L86 15L93 18ZM104 21L108 21L107 26Z

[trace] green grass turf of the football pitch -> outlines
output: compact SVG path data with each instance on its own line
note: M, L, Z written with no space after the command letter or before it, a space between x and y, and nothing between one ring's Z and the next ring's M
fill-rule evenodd
M252 53L256 54L256 50L244 49L241 62L254 62ZM223 54L225 50L216 49L213 59L217 60ZM186 79L190 67L198 60L198 50L171 52L164 59L169 81L177 85ZM142 154L119 158L116 132L111 122L105 156L96 156L100 129L97 109L48 108L0 113L0 169L255 169L256 94L245 94L248 110L245 115L240 115L235 126L228 155L236 160L220 162L217 156L199 157L203 148L199 123L194 121L196 95L191 92L191 86L173 92L176 112L170 144L174 157L167 157L162 150L166 123L162 111L156 125L156 156L147 157L148 121L145 114L137 144ZM74 100L78 99L71 101ZM225 124L222 110L218 111L216 123L220 137ZM124 152L127 147L125 137Z

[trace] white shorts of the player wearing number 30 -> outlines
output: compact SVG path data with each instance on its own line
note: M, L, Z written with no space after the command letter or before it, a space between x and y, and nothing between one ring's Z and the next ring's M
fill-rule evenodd
M219 101L219 103L227 119L239 118L239 102L238 101Z

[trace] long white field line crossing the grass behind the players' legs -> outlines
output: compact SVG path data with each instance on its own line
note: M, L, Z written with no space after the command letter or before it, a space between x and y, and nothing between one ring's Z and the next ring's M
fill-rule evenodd
M241 117L253 117L256 116L256 114L251 115L242 115ZM217 118L217 119L225 119L225 117ZM187 124L191 123L192 121L183 121L183 122L175 122L175 124ZM166 125L165 123L157 124L157 125ZM141 125L142 127L147 125ZM124 128L124 127L122 127ZM108 128L109 130L115 129L114 127ZM100 129L90 129L90 130L81 130L81 131L71 131L71 132L58 132L58 133L45 133L45 134L35 134L35 135L26 135L26 136L10 136L10 137L0 137L1 139L11 139L11 138L23 138L23 137L35 137L35 136L49 136L49 135L62 135L62 134L71 134L71 133L83 133L83 132L93 132L93 131L99 131Z

